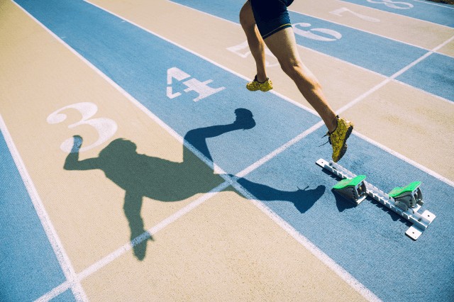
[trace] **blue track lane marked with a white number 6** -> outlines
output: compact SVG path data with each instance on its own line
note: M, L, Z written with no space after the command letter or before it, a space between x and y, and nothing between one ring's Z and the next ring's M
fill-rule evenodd
M236 23L239 22L238 14L241 6L244 4L243 0L172 1ZM289 8L291 9L292 6ZM309 47L312 50L331 55L332 57L337 57L387 77L392 76L392 74L398 72L428 52L419 47L399 43L378 35L365 33L361 30L355 30L347 26L323 21L319 18L313 18L294 11L290 11L289 15L290 20L297 28L295 37L297 38L297 43L299 45ZM303 28L298 23L309 23L311 26ZM298 29L310 31L315 28L335 30L342 35L342 38L335 39L333 38L333 35L326 35L318 31L311 33L332 40L314 40L298 34ZM434 68L438 68L437 77L421 78L406 76L407 72L411 73L412 69L416 69L416 67L412 67L409 71L402 74L399 77L399 80L428 91L431 94L454 101L454 85L452 84L452 82L454 82L454 58L445 55L436 55L436 59L432 59L432 56L435 56L435 54L429 56L430 61L436 63L436 65L416 65L416 72L420 74L431 74L433 73Z

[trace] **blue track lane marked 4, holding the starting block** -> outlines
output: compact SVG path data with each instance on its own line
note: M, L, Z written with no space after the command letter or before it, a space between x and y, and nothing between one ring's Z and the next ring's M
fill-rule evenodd
M18 4L53 33L65 36L68 45L180 135L230 123L236 108L252 111L255 128L209 138L209 150L201 150L228 173L248 167L319 121L273 94L250 93L243 79L84 1ZM184 85L175 84L173 91L182 95L170 100L166 96L170 67L201 81L213 79L210 86L226 89L194 102L197 94L184 93ZM349 140L341 164L366 174L367 181L380 189L423 182L423 208L437 218L414 242L404 235L409 225L377 203L364 201L350 208L331 193L336 180L315 164L331 155L329 145L318 147L323 134L319 129L239 183L384 301L452 301L453 187L364 140L354 136Z

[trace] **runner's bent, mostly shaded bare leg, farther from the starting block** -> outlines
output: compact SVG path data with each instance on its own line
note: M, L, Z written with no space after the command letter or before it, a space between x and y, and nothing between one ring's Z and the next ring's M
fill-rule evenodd
M240 23L248 38L250 52L253 54L255 66L257 67L258 82L265 82L267 74L265 71L265 43L255 25L253 9L247 1L240 11Z

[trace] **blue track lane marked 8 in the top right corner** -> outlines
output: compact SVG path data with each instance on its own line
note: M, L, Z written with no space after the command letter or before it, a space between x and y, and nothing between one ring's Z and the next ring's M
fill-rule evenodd
M399 15L429 21L443 26L454 27L454 6L448 4L436 4L428 1L414 0L341 0L372 9L399 13Z

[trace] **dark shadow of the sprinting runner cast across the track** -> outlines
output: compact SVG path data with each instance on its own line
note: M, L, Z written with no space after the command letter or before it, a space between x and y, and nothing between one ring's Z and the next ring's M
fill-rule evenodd
M214 174L213 160L206 144L214 138L235 130L247 130L255 126L253 114L244 108L235 111L236 121L226 125L213 125L189 130L184 140L201 152L210 165L196 157L183 146L183 162L171 162L158 157L137 153L137 145L131 140L118 138L109 143L98 157L79 160L82 137L74 136L72 151L67 155L64 169L101 169L106 177L125 190L123 211L131 229L131 245L140 261L145 258L148 240L153 240L144 229L140 216L143 197L158 201L182 201L195 194L206 193L224 180ZM291 201L301 213L307 211L325 191L324 186L314 190L279 191L270 186L255 184L247 179L238 179L245 189L257 198ZM229 186L230 189L231 186ZM234 189L232 189L234 190Z

